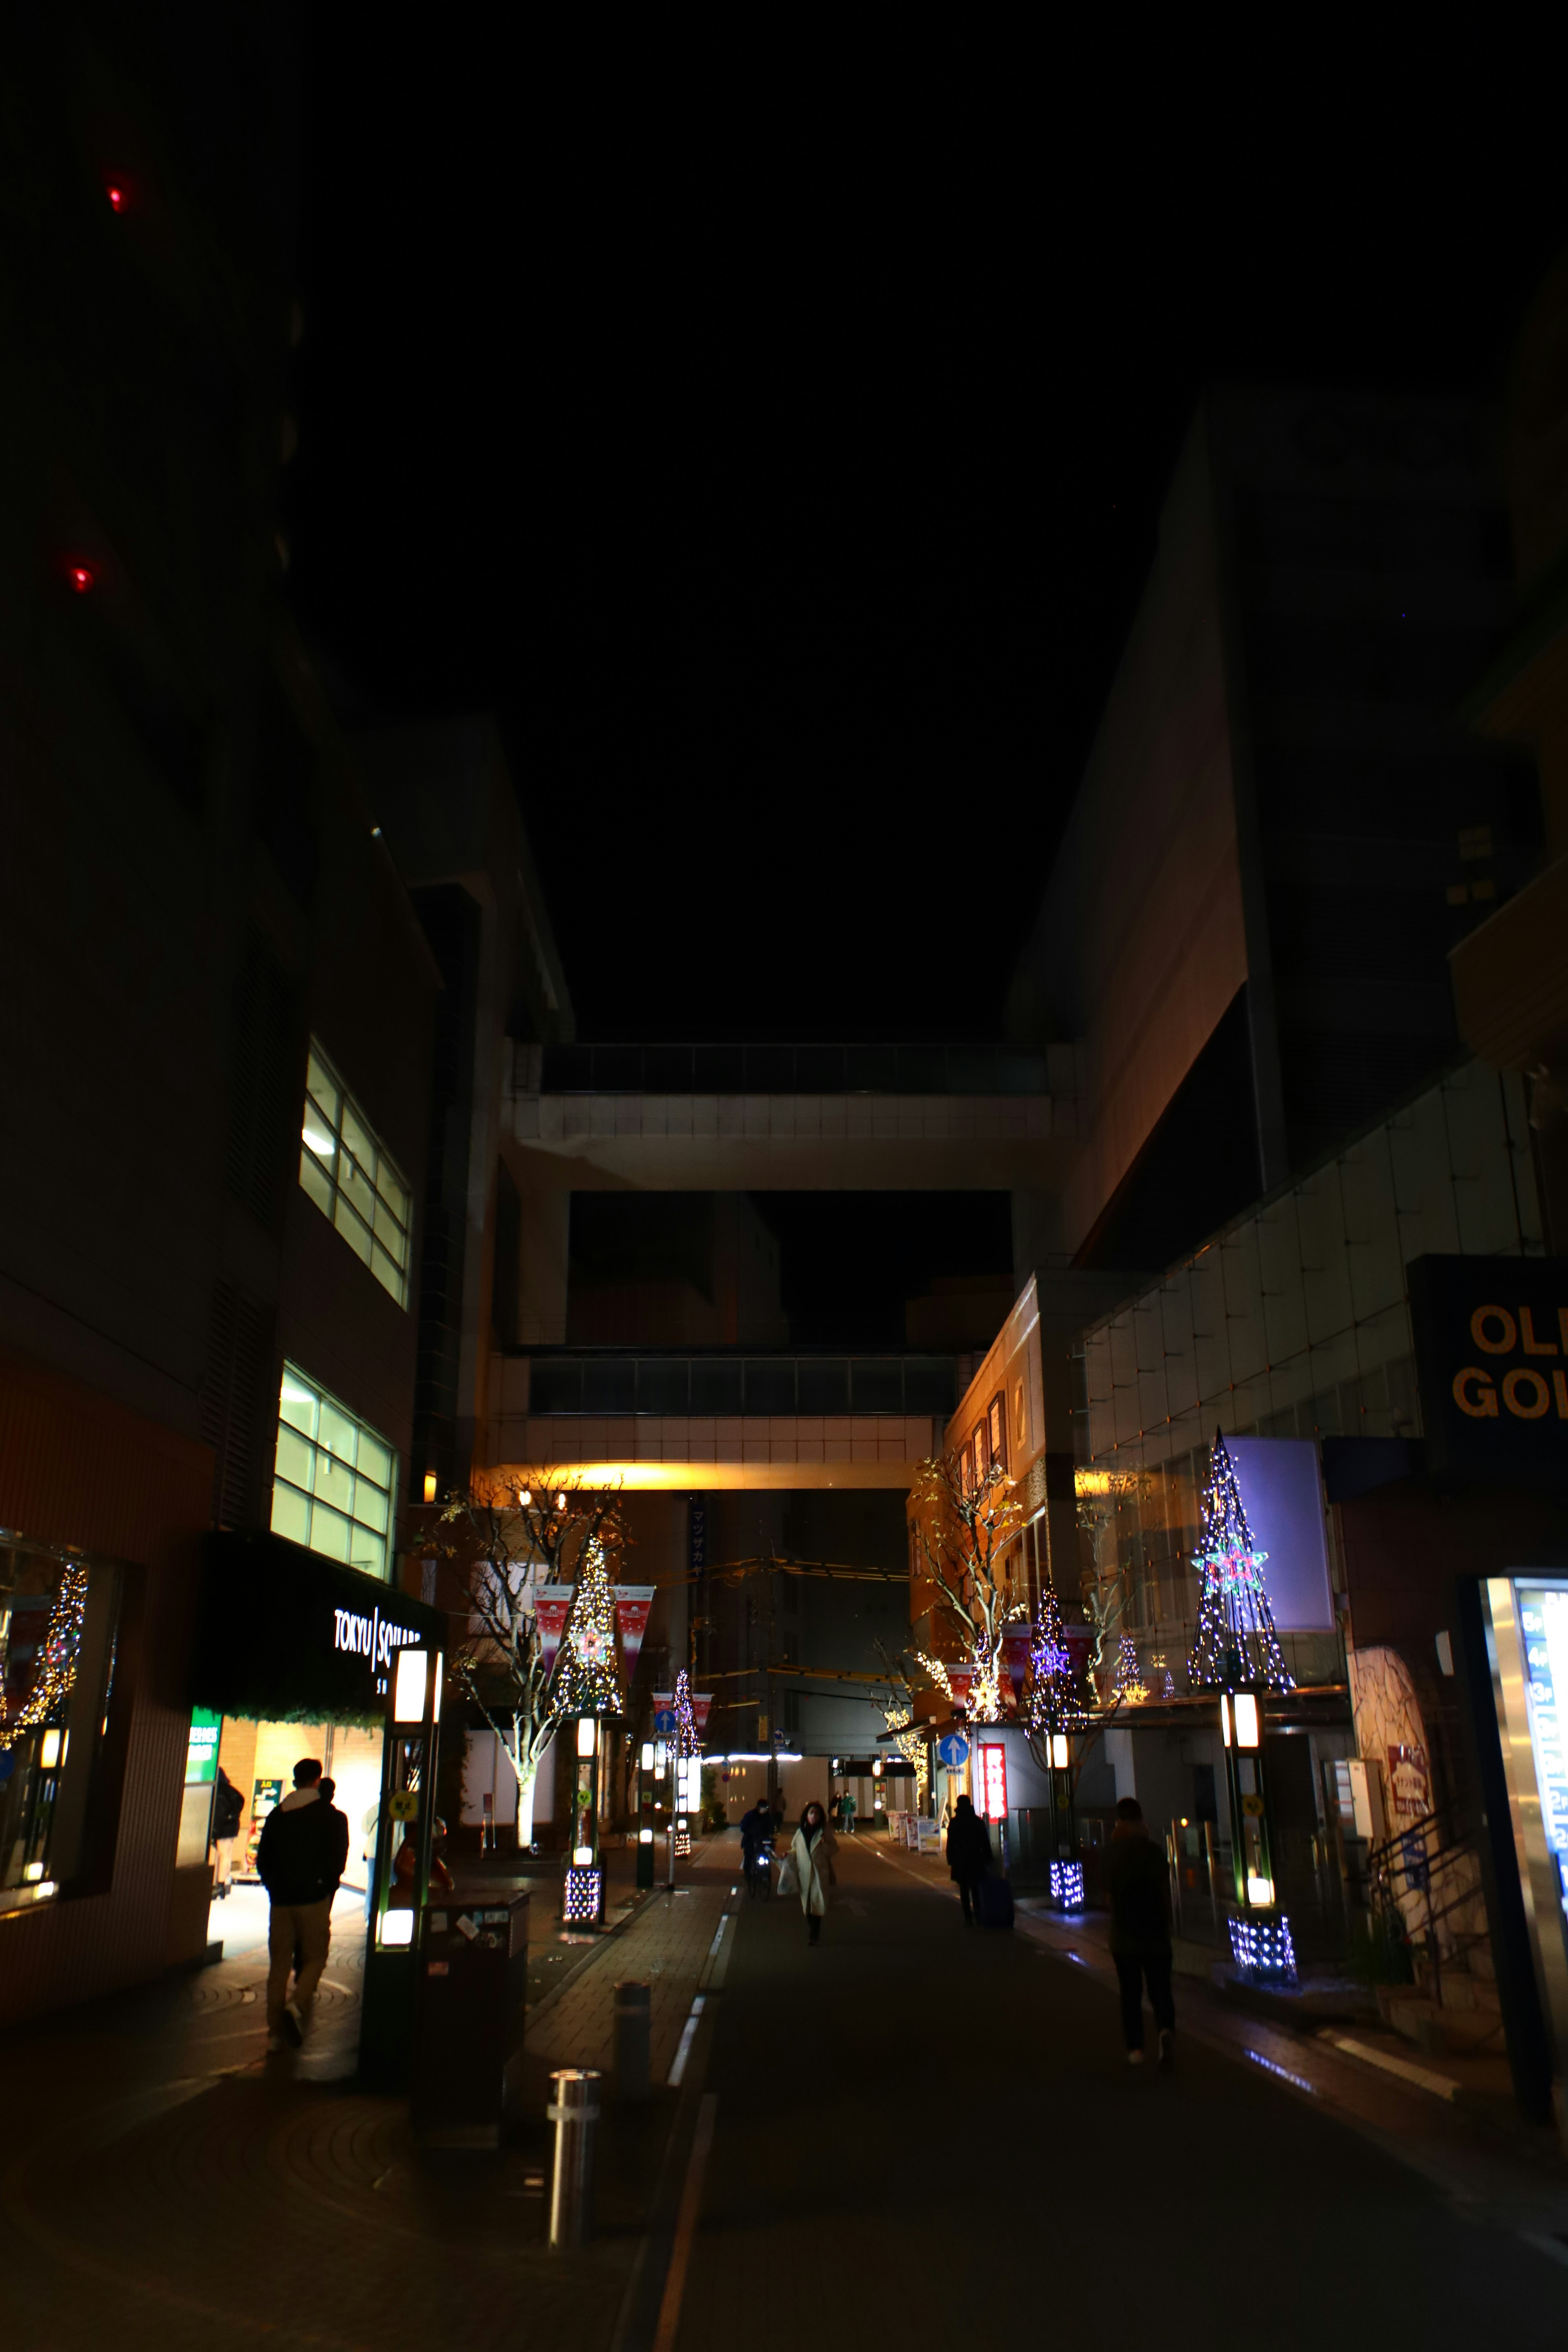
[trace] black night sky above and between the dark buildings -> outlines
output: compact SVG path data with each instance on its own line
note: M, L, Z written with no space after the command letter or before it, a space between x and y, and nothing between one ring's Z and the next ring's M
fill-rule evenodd
M994 1035L1201 383L1500 386L1544 56L1312 19L830 115L825 56L670 108L454 14L315 35L301 621L498 710L583 1035Z

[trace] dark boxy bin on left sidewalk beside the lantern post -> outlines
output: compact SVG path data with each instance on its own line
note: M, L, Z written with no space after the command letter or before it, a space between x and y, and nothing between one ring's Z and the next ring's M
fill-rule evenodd
M425 1905L414 2037L414 2136L496 2147L512 2114L529 1997L529 1896Z

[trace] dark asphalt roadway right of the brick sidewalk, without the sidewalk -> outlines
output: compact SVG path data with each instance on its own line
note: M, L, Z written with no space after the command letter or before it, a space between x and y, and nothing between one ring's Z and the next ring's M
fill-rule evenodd
M1128 2070L1088 1969L966 1933L872 1842L839 1879L818 1950L792 1905L741 1919L682 2352L1324 2345L1371 2312L1422 2345L1568 2338L1568 2267L1314 2098L1192 2037Z

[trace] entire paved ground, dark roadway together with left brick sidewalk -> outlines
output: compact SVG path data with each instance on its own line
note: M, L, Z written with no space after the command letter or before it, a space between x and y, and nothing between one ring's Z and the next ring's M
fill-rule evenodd
M858 1839L809 1950L792 1903L733 1903L733 1846L562 1947L501 2154L421 2157L353 2086L348 1929L299 2060L261 2058L254 1950L7 2037L7 2352L832 2352L1041 2310L1105 2352L1211 2347L1227 2310L1269 2345L1368 2310L1436 2347L1568 2336L1568 2169L1540 2143L1192 1983L1175 2070L1128 2072L1093 1924L966 1933L940 1870ZM609 2100L599 2239L550 2256L545 2074L609 2058L621 1976L656 1987L658 2091Z

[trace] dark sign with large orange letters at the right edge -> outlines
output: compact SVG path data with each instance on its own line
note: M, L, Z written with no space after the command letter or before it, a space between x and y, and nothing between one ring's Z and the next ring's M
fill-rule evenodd
M1568 1258L1415 1258L1427 1461L1568 1489Z

